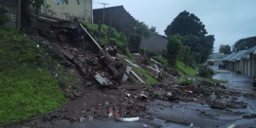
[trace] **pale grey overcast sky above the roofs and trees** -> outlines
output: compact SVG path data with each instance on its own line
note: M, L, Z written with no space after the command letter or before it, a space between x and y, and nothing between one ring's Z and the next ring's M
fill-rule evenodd
M94 0L94 9L123 6L130 14L159 34L183 10L195 14L215 37L214 51L220 45L256 36L256 0Z

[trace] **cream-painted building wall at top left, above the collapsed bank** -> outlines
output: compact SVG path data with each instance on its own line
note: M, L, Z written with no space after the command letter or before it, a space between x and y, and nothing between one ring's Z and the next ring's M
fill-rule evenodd
M78 18L83 21L85 1L85 22L92 22L92 0L69 0L68 4L58 4L58 0L46 0L50 8L42 7L42 13L64 20ZM64 0L63 0L64 1Z

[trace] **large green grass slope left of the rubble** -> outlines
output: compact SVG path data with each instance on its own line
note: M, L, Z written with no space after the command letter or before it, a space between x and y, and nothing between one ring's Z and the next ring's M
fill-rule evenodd
M67 100L46 68L46 50L0 27L0 124L46 114Z

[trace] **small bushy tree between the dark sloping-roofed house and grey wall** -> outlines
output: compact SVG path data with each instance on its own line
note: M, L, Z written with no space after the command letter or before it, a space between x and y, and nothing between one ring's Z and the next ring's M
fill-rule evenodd
M145 25L145 23L137 21L136 27L132 28L132 32L129 38L129 47L132 47L132 51L137 51L140 46L141 39L147 39L150 36L151 32L149 30L149 27Z

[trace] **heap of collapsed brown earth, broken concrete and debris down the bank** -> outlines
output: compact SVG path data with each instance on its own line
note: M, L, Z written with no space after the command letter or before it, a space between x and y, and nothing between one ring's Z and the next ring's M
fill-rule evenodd
M97 41L82 30L83 28L79 24L60 22L52 23L49 30L37 28L42 37L35 33L27 35L32 41L53 52L60 64L70 69L81 82L79 88L74 91L70 88L63 89L69 89L68 95L74 101L69 101L63 107L50 112L45 116L45 120L82 121L85 118L115 117L152 119L146 113L146 104L155 99L174 102L198 101L204 104L212 102L210 96L219 97L225 93L223 85L210 82L194 82L192 85L182 86L179 79L173 76L179 75L172 71L170 74L167 65L139 54L133 54L136 64L119 58L117 46L101 48ZM55 76L51 66L55 67L57 64L49 65L52 75ZM143 83L129 66L164 76L164 80L156 84ZM142 84L138 84L139 81Z

